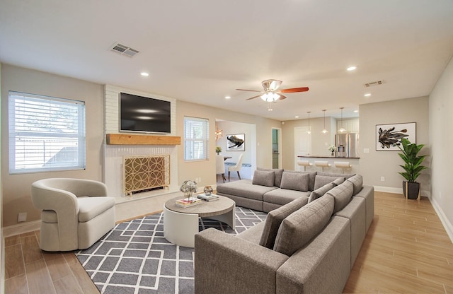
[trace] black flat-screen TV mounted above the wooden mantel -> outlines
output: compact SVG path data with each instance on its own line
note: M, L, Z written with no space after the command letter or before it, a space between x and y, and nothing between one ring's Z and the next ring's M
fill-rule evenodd
M120 131L171 133L171 102L120 93Z

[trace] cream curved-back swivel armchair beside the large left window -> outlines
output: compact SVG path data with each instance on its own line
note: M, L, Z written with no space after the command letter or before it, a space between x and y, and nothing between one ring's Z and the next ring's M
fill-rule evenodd
M115 226L115 199L102 182L52 178L34 182L31 198L42 209L40 248L86 249Z

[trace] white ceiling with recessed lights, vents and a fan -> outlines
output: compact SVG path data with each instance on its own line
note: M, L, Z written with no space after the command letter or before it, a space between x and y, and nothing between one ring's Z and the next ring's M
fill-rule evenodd
M452 54L452 0L0 2L2 63L282 121L429 95ZM272 112L235 90L269 78L310 90Z

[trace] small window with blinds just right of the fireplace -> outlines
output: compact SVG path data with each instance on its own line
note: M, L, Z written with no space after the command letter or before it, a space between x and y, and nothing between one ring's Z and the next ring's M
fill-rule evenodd
M184 117L184 160L209 159L210 123L207 119Z

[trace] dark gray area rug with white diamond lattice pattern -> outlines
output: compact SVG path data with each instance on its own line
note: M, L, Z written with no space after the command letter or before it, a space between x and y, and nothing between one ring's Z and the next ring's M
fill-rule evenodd
M217 220L200 219L200 230L241 233L265 220L266 213L236 207L236 230ZM194 249L164 238L158 213L120 223L88 249L76 252L101 293L194 293Z

